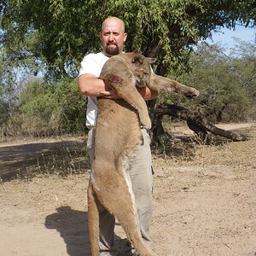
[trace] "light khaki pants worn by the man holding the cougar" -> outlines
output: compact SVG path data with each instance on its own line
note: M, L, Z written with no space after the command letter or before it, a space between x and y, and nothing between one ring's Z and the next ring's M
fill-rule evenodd
M143 143L137 149L134 157L129 162L126 170L130 175L131 188L135 197L137 214L141 226L143 241L150 244L149 225L152 216L152 170L150 137L145 129L142 129ZM90 152L90 165L94 160L94 136L95 129L90 130L87 147ZM92 170L93 172L93 170ZM113 230L115 219L108 210L100 209L100 249L108 250L113 247Z

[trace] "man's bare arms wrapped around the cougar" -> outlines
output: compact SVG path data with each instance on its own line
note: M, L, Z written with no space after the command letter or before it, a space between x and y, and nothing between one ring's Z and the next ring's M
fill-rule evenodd
M120 98L112 88L104 84L102 79L98 79L95 75L89 73L79 76L79 90L85 96L104 96L108 99ZM145 101L158 96L156 90L151 90L148 87L137 87L137 90Z

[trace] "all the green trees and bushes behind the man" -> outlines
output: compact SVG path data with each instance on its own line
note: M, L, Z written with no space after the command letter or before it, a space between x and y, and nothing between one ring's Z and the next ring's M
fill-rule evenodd
M230 59L216 46L192 54L198 40L222 26L255 26L255 8L253 0L2 0L0 125L10 134L84 129L84 96L73 78L84 54L101 49L98 32L109 15L125 20L126 51L157 57L156 73L201 90L194 101L159 101L201 108L215 121L243 119L252 108L255 116L255 49L240 44L241 55ZM48 82L28 80L23 88L28 71Z

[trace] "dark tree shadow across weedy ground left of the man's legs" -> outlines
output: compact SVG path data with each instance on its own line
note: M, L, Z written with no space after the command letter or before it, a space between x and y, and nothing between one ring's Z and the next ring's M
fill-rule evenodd
M89 168L85 142L67 140L52 143L25 143L0 147L0 177L33 177L40 174L68 175Z

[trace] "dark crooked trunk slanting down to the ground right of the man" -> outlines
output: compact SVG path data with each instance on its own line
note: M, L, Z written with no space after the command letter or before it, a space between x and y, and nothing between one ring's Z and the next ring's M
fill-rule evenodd
M183 108L177 105L169 105L166 103L162 103L155 108L156 117L162 117L165 114L186 120L189 128L192 131L195 131L195 133L198 134L203 140L207 140L207 131L221 137L227 137L234 142L248 140L248 137L246 136L233 131L226 131L212 125L204 116L202 116L200 112L190 112L188 108Z

